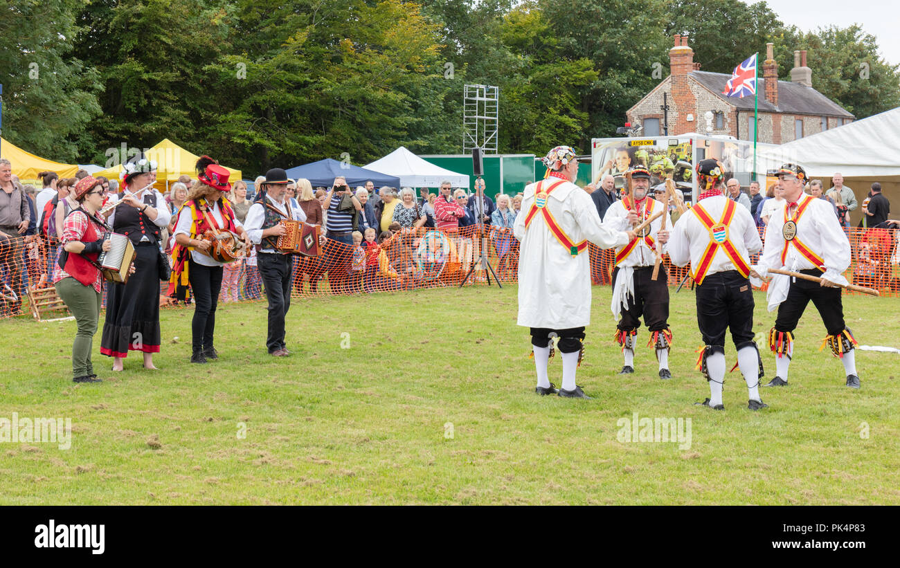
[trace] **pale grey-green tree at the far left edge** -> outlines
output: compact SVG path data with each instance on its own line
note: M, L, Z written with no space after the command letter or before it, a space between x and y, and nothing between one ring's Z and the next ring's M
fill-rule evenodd
M4 138L63 162L79 158L85 125L100 114L99 75L70 57L82 4L19 0L0 10Z

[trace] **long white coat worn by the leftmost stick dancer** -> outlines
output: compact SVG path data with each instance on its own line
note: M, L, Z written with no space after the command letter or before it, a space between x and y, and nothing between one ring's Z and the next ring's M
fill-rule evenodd
M521 243L518 262L518 324L526 327L569 329L590 324L590 259L588 250L572 256L554 236L538 211L526 228L539 183L548 189L556 177L528 185L516 216L513 233ZM628 235L600 222L590 195L563 181L546 199L546 209L572 243L588 240L600 248L628 243Z

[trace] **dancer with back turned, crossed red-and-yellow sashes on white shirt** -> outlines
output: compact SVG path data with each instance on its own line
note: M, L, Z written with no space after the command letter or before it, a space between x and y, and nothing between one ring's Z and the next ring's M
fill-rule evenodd
M753 291L750 253L762 248L750 212L723 195L722 164L702 160L697 164L698 186L705 190L697 205L675 224L669 240L669 258L676 266L690 262L697 282L697 323L706 346L698 368L709 382L710 397L699 405L725 410L725 330L730 329L737 360L750 395L747 408L769 405L760 399L762 362L753 342Z

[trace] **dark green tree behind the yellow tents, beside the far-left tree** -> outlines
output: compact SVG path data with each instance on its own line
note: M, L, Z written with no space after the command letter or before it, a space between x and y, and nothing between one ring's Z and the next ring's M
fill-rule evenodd
M104 87L103 116L91 124L94 160L106 160L107 147L163 138L205 152L203 119L224 96L206 67L228 50L228 10L204 0L92 0L79 22L76 52Z

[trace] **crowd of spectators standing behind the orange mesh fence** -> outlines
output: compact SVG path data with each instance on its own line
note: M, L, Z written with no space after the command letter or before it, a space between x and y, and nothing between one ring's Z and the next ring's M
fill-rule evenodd
M60 178L57 173L43 172L38 191L20 183L12 175L11 164L0 160L0 189L3 190L0 191L0 299L4 315L20 313L26 287L40 285L52 272L63 220L78 205L70 192L78 179L86 175L85 171L79 171L74 178ZM97 179L102 182L105 207L118 199L119 184L102 177ZM253 189L264 179L258 177ZM163 240L168 250L173 245L171 235L177 216L193 183L184 175L164 194L171 212ZM249 189L246 182L238 181L228 195L241 222L251 203L262 198L261 192L254 194ZM598 185L590 184L584 189L590 193L601 219L609 206L620 199L615 179L609 173L600 177ZM416 282L417 271L435 264L436 258L441 257L439 252L448 248L455 249L458 262L471 263L482 253L482 246L489 247L484 252L499 259L501 276L515 274L518 241L512 227L521 214L523 194L501 193L495 202L486 190L482 179L476 180L471 194L443 182L437 193L419 188L418 195L413 188L376 188L373 182L351 188L342 177L336 178L331 187L313 187L308 180L292 181L287 188L291 207L302 209L307 222L321 226L330 241L318 258L295 258L294 290L303 293L309 282L309 290L316 293L324 279L328 280L332 293L410 288ZM662 186L656 190L657 199L662 199ZM763 233L770 217L784 204L778 182L772 182L763 192L759 182L750 182L744 189L732 178L726 183L726 190L730 199L751 212ZM841 173L833 175L827 191L821 180L809 182L807 191L817 199L827 200L842 226L847 228L850 228L850 212L860 208L860 227L867 232L854 244L854 257L863 268L866 263L900 262L896 233L893 236L878 233L882 229L900 228L900 222L890 218L890 203L878 182L871 184L869 194L861 203L855 191L843 184ZM425 238L429 229L437 229L444 236ZM436 246L438 253L435 253ZM608 283L611 255L595 250L591 253L594 282ZM256 251L251 250L246 259L226 266L222 301L260 297L256 261ZM191 301L189 295L185 301Z

